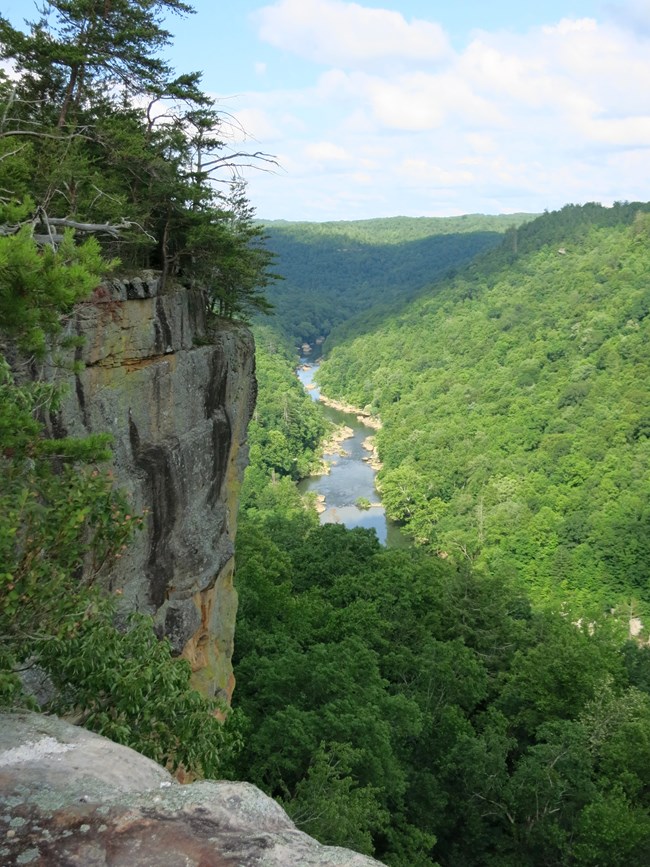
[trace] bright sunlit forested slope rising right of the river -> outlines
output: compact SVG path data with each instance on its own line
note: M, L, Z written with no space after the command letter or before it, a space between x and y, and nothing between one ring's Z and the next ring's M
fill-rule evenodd
M511 230L321 370L383 419L389 513L538 600L650 602L648 210Z

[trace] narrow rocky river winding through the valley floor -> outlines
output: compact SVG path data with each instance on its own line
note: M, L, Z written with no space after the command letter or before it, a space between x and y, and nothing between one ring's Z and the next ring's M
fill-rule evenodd
M313 379L318 365L302 359L298 368L298 378L307 388L313 385ZM308 389L313 400L318 400L318 387ZM310 476L298 483L301 493L312 492L325 497L326 509L321 512L321 524L344 524L346 527L365 527L377 533L382 545L393 548L406 548L411 541L400 531L399 527L386 517L380 496L375 488L376 471L369 466L364 457L369 452L363 448L363 442L375 431L362 424L351 413L341 412L332 407L323 406L325 416L338 427L346 425L353 435L342 442L344 455L325 454L325 461L330 465L330 473L323 476ZM369 509L360 509L356 505L359 498L369 500Z

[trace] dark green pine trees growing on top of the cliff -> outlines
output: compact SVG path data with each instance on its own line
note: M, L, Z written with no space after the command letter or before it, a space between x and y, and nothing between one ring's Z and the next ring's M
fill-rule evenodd
M17 279L36 280L52 248L71 265L96 254L92 245L73 252L60 231L72 223L125 269L206 289L219 315L268 312L273 256L237 179L247 155L227 152L200 75L177 76L160 56L171 38L163 16L191 7L51 0L39 11L26 32L0 17L0 57L17 73L0 77L0 225L25 254L33 233L46 260L17 262ZM214 183L224 172L234 178L229 194Z

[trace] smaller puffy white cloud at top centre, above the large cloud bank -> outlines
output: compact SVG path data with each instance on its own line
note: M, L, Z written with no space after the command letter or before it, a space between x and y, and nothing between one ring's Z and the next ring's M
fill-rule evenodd
M317 63L349 67L401 59L431 64L450 53L433 21L343 0L279 0L253 13L260 38Z

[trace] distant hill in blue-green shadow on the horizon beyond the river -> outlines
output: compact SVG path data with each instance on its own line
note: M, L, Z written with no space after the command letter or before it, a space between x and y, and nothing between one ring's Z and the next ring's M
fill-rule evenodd
M276 327L295 343L326 336L355 313L389 311L478 253L528 214L264 223L284 280L269 289Z

